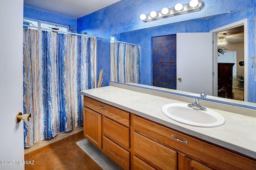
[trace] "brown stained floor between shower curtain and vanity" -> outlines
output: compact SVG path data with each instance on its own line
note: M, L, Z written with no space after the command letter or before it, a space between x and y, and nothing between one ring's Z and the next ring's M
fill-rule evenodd
M83 131L32 150L24 155L25 170L102 170L76 142L84 139Z

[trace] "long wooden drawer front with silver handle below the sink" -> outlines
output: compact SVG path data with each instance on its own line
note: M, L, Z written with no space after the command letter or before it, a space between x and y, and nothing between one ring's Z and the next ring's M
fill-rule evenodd
M216 147L210 143L200 141L138 116L134 116L134 130L168 148L179 150L212 169L256 169L256 161L254 160ZM181 141L188 141L188 144L176 141L176 139L172 138L172 135Z

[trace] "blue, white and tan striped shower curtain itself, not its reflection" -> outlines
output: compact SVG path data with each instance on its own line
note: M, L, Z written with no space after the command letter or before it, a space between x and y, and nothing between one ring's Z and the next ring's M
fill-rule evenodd
M23 30L24 147L83 125L81 90L95 87L96 39Z

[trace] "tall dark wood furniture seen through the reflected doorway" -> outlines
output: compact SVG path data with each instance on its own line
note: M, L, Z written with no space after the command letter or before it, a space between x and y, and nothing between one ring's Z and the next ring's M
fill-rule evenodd
M218 97L233 98L233 66L234 63L218 63Z

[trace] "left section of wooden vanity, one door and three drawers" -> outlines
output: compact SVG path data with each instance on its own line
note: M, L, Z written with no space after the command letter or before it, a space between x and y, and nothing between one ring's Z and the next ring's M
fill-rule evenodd
M84 113L84 137L121 168L129 170L130 113L86 96Z

